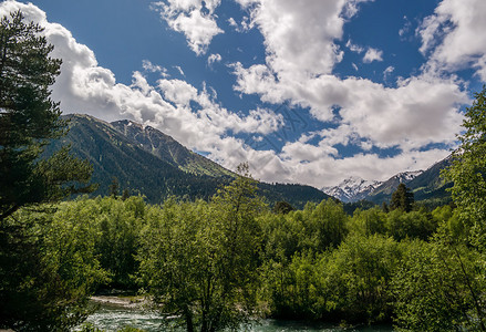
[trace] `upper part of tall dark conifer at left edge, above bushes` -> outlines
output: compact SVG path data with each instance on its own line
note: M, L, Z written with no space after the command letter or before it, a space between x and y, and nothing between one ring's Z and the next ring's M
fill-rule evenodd
M39 162L42 147L65 126L50 98L61 61L49 56L53 46L41 32L20 11L0 21L0 219L24 205L90 189L71 184L87 183L91 167L69 157L68 148Z

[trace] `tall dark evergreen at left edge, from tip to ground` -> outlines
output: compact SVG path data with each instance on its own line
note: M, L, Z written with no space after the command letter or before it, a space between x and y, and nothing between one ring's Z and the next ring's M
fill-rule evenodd
M52 50L42 28L24 23L20 11L0 20L0 329L69 331L85 318L90 295L75 273L53 268L45 243L52 220L19 210L93 188L80 186L92 167L69 147L41 158L45 144L65 133L50 97L61 66Z

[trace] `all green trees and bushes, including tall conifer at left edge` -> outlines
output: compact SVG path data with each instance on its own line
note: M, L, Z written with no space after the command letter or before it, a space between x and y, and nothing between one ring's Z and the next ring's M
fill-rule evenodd
M60 201L92 188L68 148L40 158L64 131L49 91L60 62L20 12L0 30L0 329L70 331L92 294L121 289L189 332L258 317L486 331L486 87L445 172L455 209L405 186L352 216L334 199L270 209L247 164L206 199L152 205L110 178L110 196Z

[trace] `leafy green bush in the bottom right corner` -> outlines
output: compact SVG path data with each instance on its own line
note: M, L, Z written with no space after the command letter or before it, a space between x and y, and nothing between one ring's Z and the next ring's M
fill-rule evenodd
M413 241L393 278L399 326L412 331L485 331L479 256L441 231Z

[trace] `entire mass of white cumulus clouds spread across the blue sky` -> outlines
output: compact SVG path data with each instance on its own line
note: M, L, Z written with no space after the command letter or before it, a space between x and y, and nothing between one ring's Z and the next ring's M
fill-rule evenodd
M255 142L265 143L261 137L285 125L281 115L262 107L247 115L231 112L218 103L210 86L169 80L163 74L166 73L164 68L148 61L143 63L145 72L163 74L156 84L149 84L142 72L133 73L130 85L117 83L113 72L100 66L86 45L77 43L62 25L49 22L35 6L4 1L0 3L0 12L21 8L29 19L45 27L45 35L55 46L53 55L63 59L53 97L61 101L64 112L87 113L107 121L132 118L152 125L189 148L207 152L210 158L226 167L234 169L240 162L249 160L251 170L260 179L317 187L333 185L351 174L385 179L404 169L426 168L447 156L446 148L425 147L455 142L462 122L458 105L468 100L454 77L424 73L401 79L395 87L386 87L370 80L342 79L333 74L343 56L343 50L335 41L342 39L344 23L356 13L362 1L309 0L306 6L291 0L236 1L249 14L248 27L261 32L267 58L265 63L249 68L234 63L235 90L241 94L257 94L263 102L301 106L322 122L322 127L332 124L331 128L303 133L300 139L286 143L280 152L258 151L235 134L249 134L259 137ZM454 1L444 0L440 7L446 2ZM215 9L219 3L219 0L204 4L197 0L174 0L158 2L157 7L169 27L180 29L178 31L186 34L193 50L203 54L213 37L220 33L219 28L213 25L217 29L205 31L176 22L179 22L178 18L190 21L194 13L207 20L205 23L216 24ZM441 55L441 50L446 49L443 45L448 45L448 34L438 38L440 30L434 31L434 27L443 24L438 23L443 20L441 12L437 9L420 30L423 45L426 45L423 52L432 54L431 59L437 63L452 65L455 58ZM454 29L463 23L457 24ZM365 50L355 46L349 41L347 49ZM477 74L486 76L485 52L478 56L472 50L473 46L466 48L462 52L467 56L459 58L473 59ZM211 54L208 62L213 61L209 61L213 55L218 61L218 54ZM179 66L175 69L184 76ZM389 68L383 74L391 72ZM347 145L361 146L363 152L341 157L338 146ZM372 153L373 147L395 148L397 154L380 157Z

